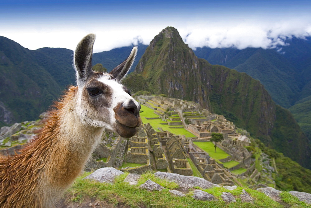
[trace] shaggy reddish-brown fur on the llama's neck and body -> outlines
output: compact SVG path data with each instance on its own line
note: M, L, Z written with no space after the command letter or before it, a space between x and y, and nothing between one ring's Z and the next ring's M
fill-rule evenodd
M76 93L77 87L70 87L21 154L0 156L0 207L53 206L83 170L96 143L94 138L76 141L74 137L81 134L80 129L72 126L62 131L60 128L70 126L62 123L62 118L75 110ZM85 131L86 135L102 133L99 128Z

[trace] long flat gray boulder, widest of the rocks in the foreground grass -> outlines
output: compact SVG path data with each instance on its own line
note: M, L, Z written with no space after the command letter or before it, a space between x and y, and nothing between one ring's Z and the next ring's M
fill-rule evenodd
M217 184L211 183L203 178L195 176L182 176L177 173L156 172L156 177L176 182L180 188L200 187L203 189L219 187Z

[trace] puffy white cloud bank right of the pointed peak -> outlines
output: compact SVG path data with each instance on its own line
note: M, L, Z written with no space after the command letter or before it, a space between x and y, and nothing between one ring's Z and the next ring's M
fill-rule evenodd
M187 30L181 30L180 33L192 49L203 46L268 49L285 45L284 40L292 36L305 38L311 35L311 25L300 20L277 23L248 21L227 26L195 26Z

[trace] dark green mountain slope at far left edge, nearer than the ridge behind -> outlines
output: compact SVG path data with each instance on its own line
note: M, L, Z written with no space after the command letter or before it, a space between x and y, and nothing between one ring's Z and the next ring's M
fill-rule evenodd
M14 121L35 120L47 110L61 87L32 51L0 36L0 101Z

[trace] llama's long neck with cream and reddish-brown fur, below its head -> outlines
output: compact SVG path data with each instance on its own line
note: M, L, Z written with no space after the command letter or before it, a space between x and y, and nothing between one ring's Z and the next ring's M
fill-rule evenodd
M77 98L68 94L37 139L38 142L43 142L40 141L42 138L48 139L44 143L47 151L43 168L45 177L40 181L41 187L49 190L47 199L53 198L55 193L62 194L83 171L104 131L81 121L75 104ZM45 138L49 134L50 137ZM40 148L39 144L37 148Z

